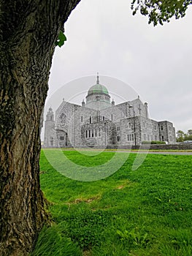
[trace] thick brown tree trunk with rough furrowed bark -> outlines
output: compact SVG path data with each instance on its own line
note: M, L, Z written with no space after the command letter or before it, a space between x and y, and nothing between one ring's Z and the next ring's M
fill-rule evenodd
M0 0L0 255L28 255L47 220L39 124L58 31L80 0Z

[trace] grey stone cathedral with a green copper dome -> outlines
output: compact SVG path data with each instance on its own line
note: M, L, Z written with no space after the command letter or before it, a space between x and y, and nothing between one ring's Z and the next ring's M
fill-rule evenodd
M170 121L155 121L148 116L148 105L139 96L115 105L106 86L91 86L82 105L63 100L45 120L44 147L139 146L150 141L176 142Z

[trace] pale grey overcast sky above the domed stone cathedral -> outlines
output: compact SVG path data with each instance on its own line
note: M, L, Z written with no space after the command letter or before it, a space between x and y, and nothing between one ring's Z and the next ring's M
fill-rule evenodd
M130 2L82 0L78 4L65 24L67 42L55 50L47 105L55 92L57 106L62 98L69 100L76 94L80 94L76 103L81 104L82 94L96 83L99 72L100 83L120 96L116 103L120 98L133 99L131 86L148 102L150 118L172 121L176 130L187 132L192 129L192 8L183 19L153 27L142 15L131 15ZM90 84L84 86L87 76ZM114 89L110 79L102 76L123 81L124 87ZM77 78L81 78L79 86ZM75 79L72 86L69 82ZM52 107L55 111L56 105Z

